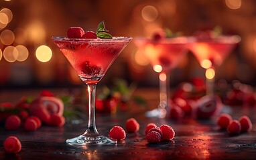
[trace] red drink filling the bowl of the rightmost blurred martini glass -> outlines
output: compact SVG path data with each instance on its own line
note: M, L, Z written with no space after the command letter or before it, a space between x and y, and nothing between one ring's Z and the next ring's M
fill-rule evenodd
M194 53L202 66L202 61L208 59L212 65L221 65L231 50L238 43L236 37L220 36L217 39L198 40L190 44L190 50ZM202 66L203 67L203 66Z

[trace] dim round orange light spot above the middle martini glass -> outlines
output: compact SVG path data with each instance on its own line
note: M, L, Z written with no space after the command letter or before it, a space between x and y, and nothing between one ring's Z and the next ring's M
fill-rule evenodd
M158 16L158 11L155 7L147 5L141 10L141 16L145 21L155 21Z

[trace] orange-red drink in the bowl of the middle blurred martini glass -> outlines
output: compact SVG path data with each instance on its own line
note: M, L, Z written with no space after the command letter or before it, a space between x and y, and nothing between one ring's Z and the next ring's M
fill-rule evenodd
M186 37L162 39L159 41L144 38L135 39L135 45L149 59L152 67L161 65L165 71L176 67L187 51L187 43L188 39Z

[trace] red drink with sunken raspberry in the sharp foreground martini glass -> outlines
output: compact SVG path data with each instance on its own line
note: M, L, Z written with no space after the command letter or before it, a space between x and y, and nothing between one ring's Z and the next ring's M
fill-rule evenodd
M68 39L54 37L60 48L79 77L83 79L101 79L127 43L128 37L113 39Z

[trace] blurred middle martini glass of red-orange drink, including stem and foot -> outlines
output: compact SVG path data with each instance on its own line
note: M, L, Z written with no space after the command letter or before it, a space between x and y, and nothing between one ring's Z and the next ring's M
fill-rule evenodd
M156 109L147 111L146 117L166 117L170 109L170 71L178 65L187 52L188 37L173 37L165 39L147 39L138 37L135 45L149 59L153 70L159 73L159 105Z

